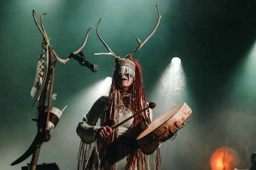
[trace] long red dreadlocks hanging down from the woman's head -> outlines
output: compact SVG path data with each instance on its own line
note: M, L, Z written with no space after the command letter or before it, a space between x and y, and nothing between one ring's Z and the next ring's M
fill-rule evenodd
M141 73L141 66L138 63L137 60L132 60L132 62L134 64L136 64L136 70L135 70L135 77L133 79L133 84L130 86L128 93L130 93L130 97L124 97L122 99L123 104L125 104L125 106L127 108L130 108L130 110L133 112L133 114L137 113L138 111L143 110L145 107L148 106L146 99L145 99L145 91L144 91L144 87L143 87L143 78L142 78L142 73ZM111 85L111 90L109 92L109 99L108 99L108 104L105 108L105 118L104 118L104 125L113 125L115 122L115 118L116 118L116 105L118 102L120 102L120 97L122 96L122 91L120 90L118 83L116 81L116 77L118 76L118 64L116 64L115 66L115 71L113 72L113 79L112 79L112 85ZM127 104L128 103L128 104ZM141 114L138 114L136 117L134 117L134 121L133 121L133 125L134 125L134 139L136 139L136 136L138 135L138 133L141 132L141 122L143 122L143 117L145 118L145 120L150 120L150 116L149 116L149 111L146 110ZM109 124L109 122L111 122L111 124ZM117 132L115 131L113 133L113 135L109 136L109 138L107 138L105 140L105 151L106 151L106 155L105 158L106 160L103 160L102 162L102 167L101 168L110 168L112 169L112 165L110 165L109 162L111 162L109 159L111 159L110 157L107 156L107 154L109 154L109 152L111 152L111 149L108 147L109 144L111 144L113 142L113 139L116 138L117 136ZM134 151L133 154L130 155L129 157L129 165L128 168L129 169L135 169L136 166L136 162L138 162L137 160L139 158L142 158L141 156L142 152L140 149L137 149L136 151Z

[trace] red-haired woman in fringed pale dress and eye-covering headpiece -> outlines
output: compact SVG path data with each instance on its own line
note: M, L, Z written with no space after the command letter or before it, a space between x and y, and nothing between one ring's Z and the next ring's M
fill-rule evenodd
M136 144L138 134L152 121L150 108L111 128L148 107L138 61L119 57L115 62L109 96L100 97L77 126L81 138L78 169L160 169L159 149L145 155ZM96 126L98 119L100 126Z

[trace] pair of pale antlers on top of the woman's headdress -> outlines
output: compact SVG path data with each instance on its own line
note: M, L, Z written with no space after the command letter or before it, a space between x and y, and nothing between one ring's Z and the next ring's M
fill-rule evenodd
M160 20L161 20L161 15L160 15L160 12L159 12L159 9L158 9L158 6L157 6L157 12L158 12L158 21L157 21L157 24L155 25L155 28L153 29L153 31L150 33L150 35L148 35L148 37L143 41L141 42L140 39L138 39L138 37L136 37L136 40L138 42L138 47L136 49L133 50L133 52L131 53L128 53L127 56L126 56L126 59L129 59L131 60L132 59L132 56L133 54L138 50L140 49L147 41L148 39L150 39L150 37L155 33L155 31L157 30L158 26L159 26L159 23L160 23ZM115 55L115 53L112 52L112 50L108 47L108 45L106 45L106 43L104 42L104 40L101 38L101 36L99 35L99 31L98 31L98 27L99 27L99 23L100 23L101 19L99 19L98 21L98 25L97 25L97 35L98 35L98 38L101 40L102 44L104 44L104 46L106 47L106 49L108 49L108 53L93 53L94 55L110 55L110 56L113 56L115 57L116 60L119 60L120 57Z

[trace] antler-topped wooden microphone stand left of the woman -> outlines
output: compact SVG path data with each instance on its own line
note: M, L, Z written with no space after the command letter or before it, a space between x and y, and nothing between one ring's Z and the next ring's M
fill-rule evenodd
M55 53L54 49L52 46L49 44L49 38L47 36L47 33L44 29L43 25L43 18L46 15L46 13L43 13L41 15L41 27L39 26L37 19L35 17L35 11L33 10L33 17L35 24L37 25L38 29L40 30L42 36L44 37L43 42L42 42L42 48L43 52L47 52L47 55L49 55L48 59L48 65L47 65L47 75L45 78L45 82L41 85L42 90L38 91L39 95L39 106L37 107L38 109L38 117L37 119L32 119L33 121L37 122L37 135L35 136L35 139L29 149L22 155L20 156L16 161L12 162L11 165L16 165L19 164L20 162L26 160L26 158L30 157L31 154L33 154L31 162L28 164L28 167L30 170L35 170L37 168L37 161L41 149L41 145L43 142L48 142L51 138L50 131L48 129L48 124L49 124L49 114L51 111L51 97L52 97L52 89L54 86L54 73L55 73L55 63L60 62L62 64L65 64L69 62L70 57L67 59L63 60L58 57L58 55ZM76 55L77 53L80 53L84 46L86 45L86 41L88 38L88 34L90 32L90 29L88 29L86 33L86 38L84 39L83 44L80 46L79 49L77 49L74 53ZM56 60L54 61L54 57ZM45 73L46 74L46 73ZM48 89L49 88L49 89ZM48 95L48 106L45 106L45 100ZM35 97L35 102L37 102L38 96ZM33 104L34 106L34 104ZM47 109L47 113L45 113L45 110Z

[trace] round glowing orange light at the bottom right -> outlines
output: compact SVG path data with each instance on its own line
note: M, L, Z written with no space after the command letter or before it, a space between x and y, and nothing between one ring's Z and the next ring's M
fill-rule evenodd
M233 170L238 163L237 153L231 147L219 147L211 157L212 170Z

